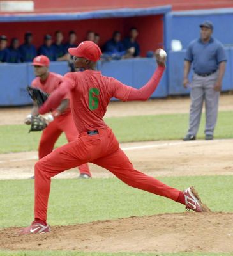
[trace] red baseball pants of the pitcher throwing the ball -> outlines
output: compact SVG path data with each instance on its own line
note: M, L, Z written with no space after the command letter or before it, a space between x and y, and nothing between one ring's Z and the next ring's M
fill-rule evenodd
M77 140L57 148L36 163L35 218L47 220L51 177L87 162L106 168L129 186L177 200L181 191L133 168L110 128L98 129L98 132L95 135L79 134Z

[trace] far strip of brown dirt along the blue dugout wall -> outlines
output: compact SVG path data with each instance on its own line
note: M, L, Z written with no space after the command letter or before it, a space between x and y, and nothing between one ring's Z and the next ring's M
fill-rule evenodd
M153 99L146 102L110 102L105 117L188 113L189 97ZM0 108L0 125L23 124L31 107ZM233 110L233 95L221 95L220 111Z

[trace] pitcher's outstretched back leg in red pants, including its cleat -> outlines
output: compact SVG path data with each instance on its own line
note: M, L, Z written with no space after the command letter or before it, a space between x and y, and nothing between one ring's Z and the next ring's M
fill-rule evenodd
M92 163L106 168L129 186L170 198L184 204L186 209L192 209L196 212L209 211L206 205L202 204L193 186L185 191L180 191L135 170L126 154L120 148L112 154L92 161Z

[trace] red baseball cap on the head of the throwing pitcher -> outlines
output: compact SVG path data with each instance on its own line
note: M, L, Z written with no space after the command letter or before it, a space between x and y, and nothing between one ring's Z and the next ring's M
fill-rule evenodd
M69 48L68 52L72 56L83 57L87 60L98 61L102 54L100 47L92 41L83 41L76 48Z

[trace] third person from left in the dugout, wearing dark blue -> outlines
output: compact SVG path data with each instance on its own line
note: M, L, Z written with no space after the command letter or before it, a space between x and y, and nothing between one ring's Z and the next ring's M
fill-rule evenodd
M36 47L33 45L33 34L27 31L24 35L24 44L19 47L22 62L32 62L36 57Z

